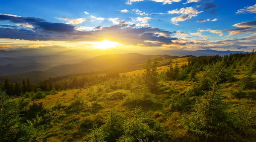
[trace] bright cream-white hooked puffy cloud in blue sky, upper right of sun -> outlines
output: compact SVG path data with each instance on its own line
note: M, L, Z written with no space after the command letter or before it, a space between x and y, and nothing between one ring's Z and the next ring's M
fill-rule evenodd
M177 22L191 19L192 17L196 17L201 12L198 12L198 10L192 7L186 7L186 8L174 9L174 10L168 11L168 14L182 14L181 16L172 18L172 23L175 25L178 25Z

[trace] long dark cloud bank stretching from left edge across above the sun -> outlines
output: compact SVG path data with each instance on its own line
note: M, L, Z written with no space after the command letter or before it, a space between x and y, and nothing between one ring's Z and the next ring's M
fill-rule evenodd
M128 25L127 22L119 20L117 25L110 27L95 27L93 31L78 31L75 26L64 23L51 23L41 18L34 17L15 17L9 15L0 15L0 20L9 20L13 23L30 24L32 27L0 27L0 38L22 39L30 41L101 41L108 37L110 41L116 41L123 44L147 46L173 44L172 34L163 29L153 27L134 28L136 25Z

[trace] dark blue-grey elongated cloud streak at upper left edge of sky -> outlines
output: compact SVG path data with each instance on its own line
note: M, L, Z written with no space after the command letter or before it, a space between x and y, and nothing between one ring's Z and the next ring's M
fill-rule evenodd
M17 17L0 14L0 21L9 20L12 23L29 23L36 28L44 29L52 32L72 32L75 26L64 23L50 23L41 18L35 17Z

